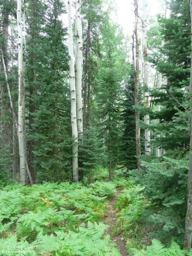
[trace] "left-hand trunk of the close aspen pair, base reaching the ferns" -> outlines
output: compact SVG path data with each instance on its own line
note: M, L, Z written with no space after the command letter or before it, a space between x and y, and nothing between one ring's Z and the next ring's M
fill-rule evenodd
M78 133L77 133L77 118L76 118L76 88L75 88L75 66L74 66L74 51L73 51L73 29L72 29L72 0L67 3L68 13L68 53L69 53L69 72L70 72L70 92L71 92L71 127L74 143L72 146L73 160L72 172L73 182L78 182Z

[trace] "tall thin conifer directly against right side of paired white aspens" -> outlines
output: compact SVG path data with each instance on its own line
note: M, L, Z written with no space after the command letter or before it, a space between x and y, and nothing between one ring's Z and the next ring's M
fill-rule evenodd
M107 21L108 14L102 10L101 0L87 1L82 6L82 25L83 25L83 127L86 129L92 125L94 119L93 97L96 94L95 83L97 80L98 69L101 58L102 26Z

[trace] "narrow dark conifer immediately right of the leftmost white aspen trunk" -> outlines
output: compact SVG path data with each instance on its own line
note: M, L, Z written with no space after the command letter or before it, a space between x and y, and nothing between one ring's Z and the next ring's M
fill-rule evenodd
M43 72L42 60L44 59L43 36L41 32L45 24L46 5L39 0L28 0L25 6L26 22L26 52L25 52L25 83L26 83L26 109L28 114L26 125L28 140L28 164L33 181L36 181L36 170L34 168L34 150L36 141L30 139L33 132L32 124L34 123L35 113L37 111L39 83L41 73ZM37 79L38 76L38 79Z

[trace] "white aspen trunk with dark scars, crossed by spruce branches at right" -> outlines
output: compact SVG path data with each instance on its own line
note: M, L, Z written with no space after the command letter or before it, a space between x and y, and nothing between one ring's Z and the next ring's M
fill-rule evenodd
M144 79L143 85L148 88L148 53L147 53L147 0L143 0L143 65ZM149 108L148 92L145 92L144 103ZM145 124L149 125L149 115L144 116ZM150 150L150 130L145 129L145 154L149 155Z

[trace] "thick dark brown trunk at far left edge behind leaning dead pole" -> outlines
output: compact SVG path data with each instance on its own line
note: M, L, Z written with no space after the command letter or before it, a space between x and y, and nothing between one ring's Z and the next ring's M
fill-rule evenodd
M7 0L6 0L7 1ZM5 68L7 70L7 55L8 55L8 27L9 27L9 14L4 14L3 15L3 29L2 29L2 36L3 36L3 45L2 45L2 51L4 55L4 62L5 62ZM3 67L2 67L3 69ZM8 117L8 104L5 99L6 94L6 87L4 85L1 86L1 118L2 118L2 123L1 123L1 147L5 148L6 145L9 144L9 123L7 120ZM3 154L7 154L7 152L3 152Z

